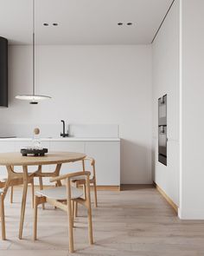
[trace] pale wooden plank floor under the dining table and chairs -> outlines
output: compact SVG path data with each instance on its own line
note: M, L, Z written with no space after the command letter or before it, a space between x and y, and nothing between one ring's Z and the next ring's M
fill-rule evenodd
M32 240L30 196L26 212L24 239L18 240L22 189L16 188L15 203L6 200L8 240L0 241L1 256L65 256L67 216L46 206L39 210L39 240ZM203 256L204 221L182 221L163 197L151 186L124 187L121 192L99 191L99 207L92 210L94 241L88 245L86 212L74 228L73 255L97 256Z

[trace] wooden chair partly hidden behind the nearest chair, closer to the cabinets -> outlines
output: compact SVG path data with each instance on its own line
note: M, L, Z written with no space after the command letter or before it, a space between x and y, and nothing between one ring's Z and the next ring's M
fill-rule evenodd
M82 167L83 167L83 172L86 170L86 161L88 161L92 167L92 170L88 170L92 174L92 178L90 178L90 184L92 184L93 187L93 192L94 192L94 205L95 207L98 207L98 200L97 200L97 187L96 187L96 169L95 169L95 160L92 157L86 157L85 159L82 160ZM76 187L86 187L86 181L81 179L78 179L77 181L74 181ZM78 214L78 204L77 202L74 205L74 215L77 217Z

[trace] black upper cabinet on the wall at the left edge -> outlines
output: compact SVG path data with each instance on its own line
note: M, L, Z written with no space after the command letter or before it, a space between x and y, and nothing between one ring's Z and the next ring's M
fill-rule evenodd
M8 40L0 36L0 107L8 107Z

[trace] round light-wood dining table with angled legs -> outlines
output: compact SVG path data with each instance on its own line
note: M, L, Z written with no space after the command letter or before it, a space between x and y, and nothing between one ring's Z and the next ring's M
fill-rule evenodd
M34 177L40 177L40 179L42 179L42 177L59 176L61 165L63 163L81 161L85 157L86 154L75 152L52 152L44 156L22 156L20 153L0 154L0 165L5 166L8 172L8 179L3 190L4 198L9 187L23 183L19 239L22 239L22 228L29 182L33 181ZM42 165L56 165L56 167L54 172L42 173ZM22 166L22 172L16 173L14 170L15 166ZM28 166L38 166L38 168L35 172L29 173ZM61 181L58 182L58 186L61 186Z

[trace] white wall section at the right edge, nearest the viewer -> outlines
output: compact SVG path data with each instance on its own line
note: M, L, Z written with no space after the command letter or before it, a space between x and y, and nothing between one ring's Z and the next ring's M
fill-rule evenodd
M182 219L204 219L204 1L182 1Z

